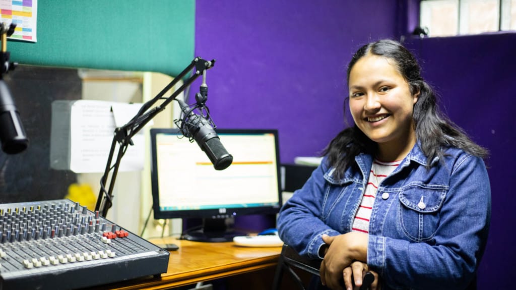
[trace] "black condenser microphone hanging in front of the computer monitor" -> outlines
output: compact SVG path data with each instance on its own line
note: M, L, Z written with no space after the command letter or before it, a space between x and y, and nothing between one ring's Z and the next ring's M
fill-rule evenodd
M220 143L219 136L211 123L202 115L195 114L183 101L178 101L181 110L185 114L181 123L181 132L189 139L193 138L199 147L206 153L215 170L228 168L233 162L233 156L225 150Z

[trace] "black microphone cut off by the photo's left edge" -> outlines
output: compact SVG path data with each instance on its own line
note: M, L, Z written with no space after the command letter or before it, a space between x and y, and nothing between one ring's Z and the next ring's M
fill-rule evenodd
M0 79L0 141L2 150L7 154L20 153L29 144L20 114L3 79Z

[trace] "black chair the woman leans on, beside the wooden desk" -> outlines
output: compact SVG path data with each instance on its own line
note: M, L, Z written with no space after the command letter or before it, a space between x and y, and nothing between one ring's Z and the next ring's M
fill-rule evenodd
M280 289L281 280L283 278L285 270L298 284L300 289L307 289L303 284L301 278L294 271L293 267L309 272L312 275L319 276L319 268L321 265L321 261L322 260L307 259L306 257L299 255L292 247L289 247L288 245L283 245L283 248L281 249L280 259L278 261L278 266L276 267L276 273L274 275L272 290ZM373 273L367 272L363 279L363 285L360 289L368 289L369 285L373 283L374 279L375 277L373 276Z

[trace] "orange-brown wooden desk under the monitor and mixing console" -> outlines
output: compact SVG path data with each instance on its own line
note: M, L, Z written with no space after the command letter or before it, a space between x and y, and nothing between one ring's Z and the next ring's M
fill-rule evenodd
M173 243L179 250L170 252L167 273L160 278L141 278L92 289L169 289L266 268L275 268L281 247L248 248L227 243L201 243L174 238L150 239L154 244Z

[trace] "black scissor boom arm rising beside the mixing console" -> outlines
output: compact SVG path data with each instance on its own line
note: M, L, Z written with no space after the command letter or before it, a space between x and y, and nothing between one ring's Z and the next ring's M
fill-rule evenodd
M106 217L107 211L112 205L113 200L113 188L115 185L116 177L118 174L118 169L120 167L120 162L122 157L127 150L127 147L133 144L132 137L135 136L142 128L145 126L150 120L152 120L159 112L163 111L165 107L172 102L181 92L183 92L194 80L196 80L201 74L204 74L206 70L211 69L215 64L215 59L211 61L204 60L200 57L194 58L190 65L186 67L178 76L174 77L172 82L170 82L162 91L160 91L152 100L143 104L138 113L131 119L131 121L127 122L125 125L121 127L115 128L113 140L111 142L111 149L109 150L109 156L106 164L106 169L104 171L104 175L102 175L100 181L100 192L99 197L97 198L95 211L99 211L99 215L102 217ZM195 73L186 79L183 82L183 85L176 89L168 98L163 101L163 103L153 107L157 101L163 99L163 95L167 93L175 84L179 82L184 76L187 75L189 71L195 68ZM115 150L117 147L117 143L119 144L117 158L115 160L115 164L111 166L112 159L115 155ZM106 189L106 184L108 180L109 172L113 170L111 174L111 179L109 181L109 187Z

